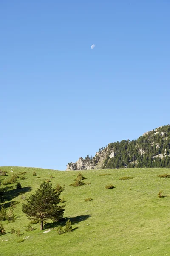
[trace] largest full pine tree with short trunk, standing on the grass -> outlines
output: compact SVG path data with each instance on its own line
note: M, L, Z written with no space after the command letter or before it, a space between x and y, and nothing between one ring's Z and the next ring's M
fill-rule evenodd
M59 221L63 218L64 208L60 205L59 195L56 189L47 182L42 182L40 188L28 198L28 203L23 204L22 211L31 219L39 219L40 230L43 229L44 221L51 219Z

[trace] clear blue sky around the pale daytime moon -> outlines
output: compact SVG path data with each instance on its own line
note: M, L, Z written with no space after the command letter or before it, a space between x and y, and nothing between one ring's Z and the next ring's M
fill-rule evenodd
M169 123L169 0L0 1L1 166L65 170Z

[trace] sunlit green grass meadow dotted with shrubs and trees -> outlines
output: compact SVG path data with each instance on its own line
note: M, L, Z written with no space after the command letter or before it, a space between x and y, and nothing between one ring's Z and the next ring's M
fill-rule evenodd
M158 177L170 173L170 169L85 170L81 171L87 178L84 181L90 184L72 187L69 184L79 171L13 167L10 172L11 167L0 167L8 171L8 176L0 176L1 182L12 173L27 173L25 180L18 179L23 188L20 191L16 190L16 184L7 185L5 206L17 201L14 208L17 218L13 223L2 222L6 234L0 236L1 256L170 255L170 179ZM33 176L34 171L37 176ZM50 175L54 178L50 179ZM133 179L120 180L125 176ZM35 230L26 231L30 220L21 211L26 200L21 199L19 192L25 191L28 198L47 179L53 186L60 183L65 187L60 197L66 201L64 217L74 222L70 233L58 235L57 225L65 223L50 221L45 225L45 230L51 229L48 233L40 231L40 224L33 225ZM105 189L110 183L115 188ZM159 191L166 197L159 198ZM93 200L86 202L85 198ZM22 236L11 234L12 227L20 229Z

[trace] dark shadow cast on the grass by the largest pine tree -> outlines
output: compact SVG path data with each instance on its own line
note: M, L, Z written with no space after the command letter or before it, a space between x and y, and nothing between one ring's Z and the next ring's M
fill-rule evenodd
M86 219L90 218L91 215L90 214L86 214L86 215L80 215L80 216L76 216L76 217L67 217L67 218L63 218L61 221L54 221L53 223L46 223L45 224L45 229L46 228L54 228L57 226L65 226L66 221L70 220L72 222L72 224L78 224L81 221L85 221ZM73 230L76 230L78 227L73 228Z

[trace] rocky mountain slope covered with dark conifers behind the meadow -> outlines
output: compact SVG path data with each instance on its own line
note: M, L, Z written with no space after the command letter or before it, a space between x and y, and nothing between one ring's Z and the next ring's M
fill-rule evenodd
M170 125L146 132L137 140L110 143L94 157L87 155L76 163L68 163L66 170L127 167L170 168Z

